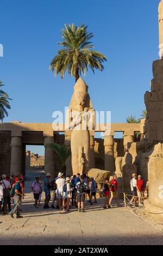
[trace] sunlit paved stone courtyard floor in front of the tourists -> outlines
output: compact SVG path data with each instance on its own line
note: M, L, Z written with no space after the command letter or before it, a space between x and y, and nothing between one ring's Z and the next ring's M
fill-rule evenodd
M26 182L29 192L31 181ZM124 207L103 210L86 202L85 212L70 213L34 208L32 193L26 193L22 219L0 216L0 245L161 245L163 234Z

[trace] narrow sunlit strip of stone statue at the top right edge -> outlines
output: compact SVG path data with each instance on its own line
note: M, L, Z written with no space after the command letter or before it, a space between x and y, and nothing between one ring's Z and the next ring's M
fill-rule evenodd
M159 44L160 59L163 58L163 0L159 4Z

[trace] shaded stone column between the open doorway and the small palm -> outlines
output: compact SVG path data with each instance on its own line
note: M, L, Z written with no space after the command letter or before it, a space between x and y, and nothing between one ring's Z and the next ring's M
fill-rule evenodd
M54 143L54 137L44 138L45 147L45 173L51 173L51 179L54 179L57 174L55 173L55 163L54 163L54 149L48 147L48 144Z

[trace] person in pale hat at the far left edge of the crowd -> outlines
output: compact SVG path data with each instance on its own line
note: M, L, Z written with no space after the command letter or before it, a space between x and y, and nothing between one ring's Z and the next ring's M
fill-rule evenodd
M2 175L2 187L3 187L3 214L7 214L8 198L10 196L11 184L6 180L7 175Z

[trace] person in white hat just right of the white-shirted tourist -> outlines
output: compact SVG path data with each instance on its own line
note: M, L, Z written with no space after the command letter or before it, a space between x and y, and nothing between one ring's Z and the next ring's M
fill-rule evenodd
M64 192L63 207L64 207L64 210L67 210L67 212L70 211L69 207L70 207L71 191L74 190L74 187L71 187L70 180L71 180L70 177L66 177L65 184L63 187L63 192Z

